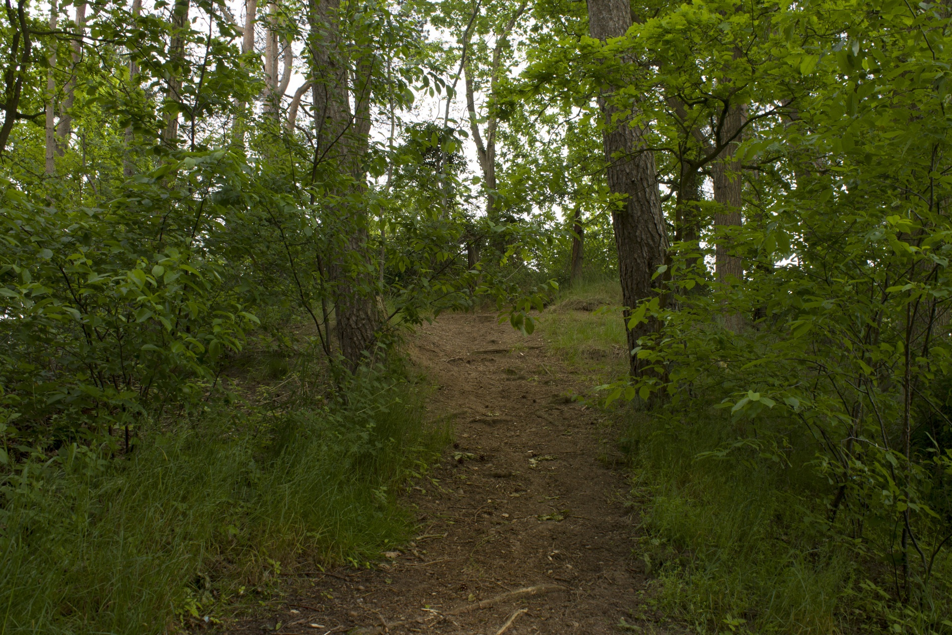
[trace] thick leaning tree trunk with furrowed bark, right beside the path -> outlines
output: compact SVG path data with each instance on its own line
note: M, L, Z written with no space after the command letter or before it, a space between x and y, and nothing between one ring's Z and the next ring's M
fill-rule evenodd
M591 36L605 41L621 37L631 26L631 10L626 0L589 0L588 28ZM667 253L667 228L661 208L661 196L655 170L654 154L645 149L644 129L631 126L624 119L613 122L618 108L611 104L611 93L621 87L605 87L599 97L605 129L603 141L608 189L622 195L618 208L611 214L618 248L618 268L622 282L625 323L630 310L643 300L658 296L661 277L652 280L657 268L664 264ZM662 296L663 297L663 296ZM628 348L638 347L638 339L654 331L657 321L628 329ZM640 373L637 357L631 357L631 372Z

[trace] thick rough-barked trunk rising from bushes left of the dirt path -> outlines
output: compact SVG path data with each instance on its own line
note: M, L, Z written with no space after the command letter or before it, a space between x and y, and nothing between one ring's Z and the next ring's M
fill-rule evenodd
M343 188L362 190L366 187L362 158L367 152L370 131L372 57L369 50L355 51L357 63L351 90L349 65L338 52L338 1L312 2L308 15L311 21L309 46L314 63L311 94L317 128L312 175L317 174L319 160L329 161L337 171L352 178L353 185ZM355 104L353 112L350 98ZM346 202L342 205L348 206ZM337 237L339 247L333 257L330 277L334 282L337 339L341 354L349 367L355 369L365 359L365 352L373 352L381 316L375 297L375 281L370 273L373 267L367 240L367 212L359 206L335 211L341 234Z

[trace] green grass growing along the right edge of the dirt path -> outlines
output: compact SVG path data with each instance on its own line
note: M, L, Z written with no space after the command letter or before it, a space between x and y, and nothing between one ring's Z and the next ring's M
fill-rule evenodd
M568 288L541 320L570 367L598 382L627 371L618 284ZM675 414L628 406L612 414L641 504L639 554L656 576L649 603L699 633L833 633L849 627L844 602L858 578L854 550L832 541L806 448L784 467L756 453L718 459L705 452L738 435L704 400ZM851 603L851 610L856 609ZM633 614L639 608L632 598ZM855 611L854 611L855 613Z

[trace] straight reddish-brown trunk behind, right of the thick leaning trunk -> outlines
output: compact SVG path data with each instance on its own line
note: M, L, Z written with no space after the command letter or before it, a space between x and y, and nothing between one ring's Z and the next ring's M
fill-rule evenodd
M740 105L731 106L724 118L721 134L729 139L744 125L744 109ZM719 140L720 141L720 140ZM734 159L737 146L741 143L729 144L721 153L721 159L713 165L714 201L723 211L714 214L716 228L739 226L742 223L741 208L744 205L742 197L744 182L741 178L741 162ZM730 254L730 245L724 241L718 242L715 248L715 270L719 282L730 283L744 279L744 263L735 255ZM724 324L731 330L738 330L743 323L739 313L724 315Z

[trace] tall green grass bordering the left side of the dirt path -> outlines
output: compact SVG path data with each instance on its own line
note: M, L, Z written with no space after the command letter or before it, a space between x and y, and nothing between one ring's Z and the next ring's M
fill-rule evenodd
M403 540L402 481L445 441L407 384L346 403L211 408L125 458L75 444L19 466L0 508L0 634L161 633L303 559Z

